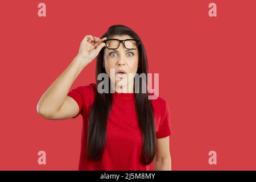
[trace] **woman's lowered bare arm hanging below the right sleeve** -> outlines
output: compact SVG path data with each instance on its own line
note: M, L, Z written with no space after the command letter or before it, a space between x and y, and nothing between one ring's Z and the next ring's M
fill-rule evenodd
M155 171L171 171L169 136L156 139Z

